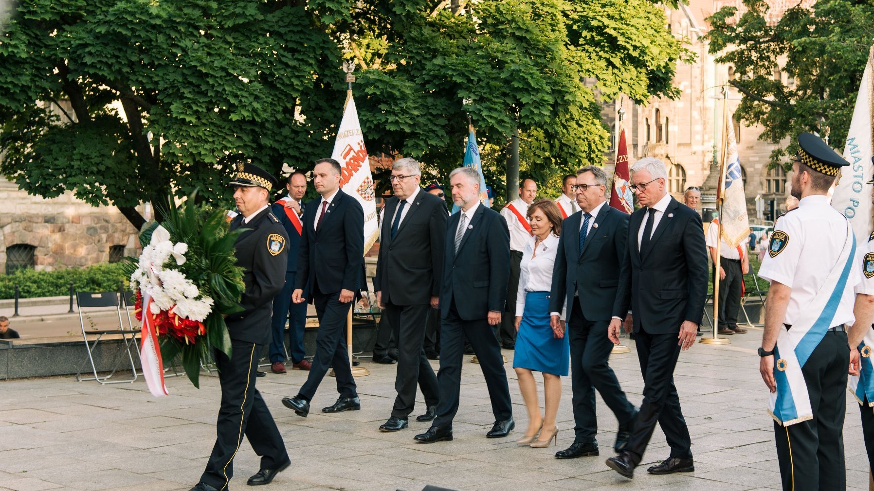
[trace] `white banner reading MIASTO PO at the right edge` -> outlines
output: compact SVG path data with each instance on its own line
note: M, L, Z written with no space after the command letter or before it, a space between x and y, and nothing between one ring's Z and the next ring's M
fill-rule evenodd
M872 143L874 143L874 47L868 53L868 63L862 75L862 84L853 108L850 131L843 145L843 158L850 166L841 168L831 205L850 219L853 233L860 243L871 233L871 179Z

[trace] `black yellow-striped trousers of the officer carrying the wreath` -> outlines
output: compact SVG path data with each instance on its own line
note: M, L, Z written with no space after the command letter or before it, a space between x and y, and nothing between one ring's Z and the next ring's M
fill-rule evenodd
M216 422L216 444L200 476L201 482L220 490L227 489L231 481L233 457L243 435L260 456L260 468L276 469L290 461L274 418L255 389L255 371L263 347L235 339L231 346L230 358L218 349L214 353L221 384L221 407Z

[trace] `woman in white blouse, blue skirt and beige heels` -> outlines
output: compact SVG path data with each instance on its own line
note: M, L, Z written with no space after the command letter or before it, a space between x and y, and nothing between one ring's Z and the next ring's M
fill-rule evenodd
M570 347L565 325L550 327L549 296L552 286L552 266L558 251L561 233L561 212L549 199L538 199L528 207L532 237L522 256L519 290L516 300L516 353L513 368L519 379L519 391L528 409L528 431L519 445L536 448L557 441L558 401L561 399L561 378L567 375ZM562 314L562 318L565 315ZM538 388L532 371L544 376L546 409L540 414ZM539 435L539 438L538 438Z

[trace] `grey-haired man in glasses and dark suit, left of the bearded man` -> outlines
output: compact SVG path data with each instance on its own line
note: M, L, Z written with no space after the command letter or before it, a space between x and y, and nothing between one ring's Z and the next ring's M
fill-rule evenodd
M383 432L406 428L416 402L416 383L425 396L426 413L434 418L437 376L422 349L428 311L439 305L440 271L446 240L446 205L419 187L421 171L412 158L392 165L394 196L385 203L382 235L373 288L383 309L383 322L398 343L398 373L392 417L379 426Z

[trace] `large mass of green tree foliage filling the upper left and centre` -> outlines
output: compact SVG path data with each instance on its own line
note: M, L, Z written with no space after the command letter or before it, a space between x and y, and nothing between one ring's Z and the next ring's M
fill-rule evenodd
M649 0L31 0L0 36L0 173L29 193L135 205L199 188L230 206L243 156L279 172L329 155L343 59L372 154L461 163L468 115L501 191L601 163L600 97L674 96L687 52ZM462 104L469 100L469 104ZM149 138L150 137L150 138ZM379 178L379 176L377 176ZM385 183L385 180L383 180Z

